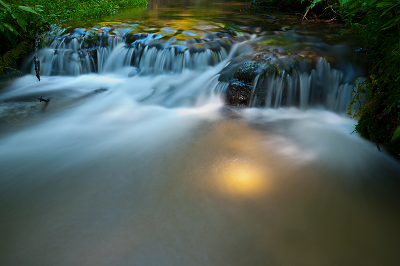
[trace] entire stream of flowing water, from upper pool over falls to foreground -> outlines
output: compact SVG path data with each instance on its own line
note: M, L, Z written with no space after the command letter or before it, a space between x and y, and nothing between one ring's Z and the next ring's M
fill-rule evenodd
M346 115L357 40L248 5L43 37L41 80L0 88L0 265L400 264L400 165ZM226 106L248 60L253 108Z

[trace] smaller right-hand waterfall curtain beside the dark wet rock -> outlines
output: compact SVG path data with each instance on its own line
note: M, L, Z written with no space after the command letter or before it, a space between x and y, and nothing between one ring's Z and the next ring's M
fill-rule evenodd
M347 110L354 85L344 82L345 74L331 68L325 58L318 58L315 68L309 73L298 69L292 73L273 68L268 70L267 74L256 76L250 106L296 106L303 110L321 106L335 112Z

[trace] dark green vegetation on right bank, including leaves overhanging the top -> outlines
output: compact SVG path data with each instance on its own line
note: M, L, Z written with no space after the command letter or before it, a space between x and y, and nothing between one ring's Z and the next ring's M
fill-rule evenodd
M370 60L367 79L354 87L349 114L355 129L400 158L400 1L398 0L254 0L253 6L300 10L302 19L341 21L364 40ZM346 29L345 29L346 30ZM341 32L343 33L343 31ZM366 100L366 102L365 102Z

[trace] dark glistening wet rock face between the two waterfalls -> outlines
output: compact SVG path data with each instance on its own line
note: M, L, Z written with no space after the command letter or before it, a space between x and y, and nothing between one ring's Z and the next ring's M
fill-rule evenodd
M234 106L248 106L251 95L251 83L235 80L230 83L226 93L226 103Z

